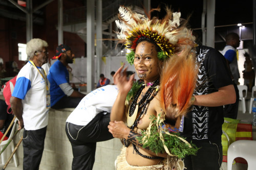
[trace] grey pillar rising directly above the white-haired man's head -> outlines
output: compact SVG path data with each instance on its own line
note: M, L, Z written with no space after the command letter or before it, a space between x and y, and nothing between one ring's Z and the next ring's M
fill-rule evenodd
M32 10L32 0L27 0L27 11L26 14L26 37L27 42L33 38L33 10Z

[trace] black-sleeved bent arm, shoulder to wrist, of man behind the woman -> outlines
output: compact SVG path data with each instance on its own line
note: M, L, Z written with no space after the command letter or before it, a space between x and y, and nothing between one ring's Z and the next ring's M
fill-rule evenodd
M236 91L234 90L233 82L228 72L228 64L225 57L214 48L207 47L205 49L210 50L207 53L208 57L206 57L203 63L207 68L207 75L212 83L212 86L209 88L218 89L218 91L195 95L196 100L193 105L218 107L236 102Z

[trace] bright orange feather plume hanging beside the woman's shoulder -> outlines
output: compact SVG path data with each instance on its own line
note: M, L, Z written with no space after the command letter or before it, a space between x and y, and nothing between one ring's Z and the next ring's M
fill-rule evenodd
M180 116L185 115L191 105L197 73L195 54L190 47L172 56L163 68L159 91L161 107L167 119L177 119L176 127L180 126Z

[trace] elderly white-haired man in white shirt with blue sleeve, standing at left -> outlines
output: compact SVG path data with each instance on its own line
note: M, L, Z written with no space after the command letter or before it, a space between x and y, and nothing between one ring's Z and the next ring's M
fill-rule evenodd
M23 134L23 169L39 169L44 151L48 112L50 108L49 83L41 66L48 61L48 44L39 38L27 43L29 62L19 71L10 99Z

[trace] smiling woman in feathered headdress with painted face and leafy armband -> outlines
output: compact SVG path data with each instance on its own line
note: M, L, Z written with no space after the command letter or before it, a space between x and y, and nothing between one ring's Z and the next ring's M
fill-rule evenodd
M195 89L194 37L168 8L162 19L125 7L119 12L119 43L131 50L127 61L144 84L133 84L134 75L126 80L123 67L114 76L119 93L109 131L124 143L116 168L183 169L180 159L197 152L177 133Z

